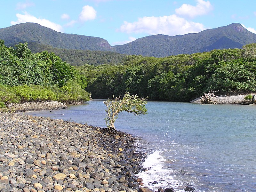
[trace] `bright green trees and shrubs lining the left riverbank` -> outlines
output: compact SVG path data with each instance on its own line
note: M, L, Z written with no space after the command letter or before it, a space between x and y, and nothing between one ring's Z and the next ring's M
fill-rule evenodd
M86 86L86 77L54 53L33 54L27 43L7 48L0 40L0 108L19 102L86 101Z

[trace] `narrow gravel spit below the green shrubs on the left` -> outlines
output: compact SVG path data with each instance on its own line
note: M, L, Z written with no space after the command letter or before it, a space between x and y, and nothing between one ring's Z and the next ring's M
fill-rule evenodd
M39 111L39 110L54 110L58 108L67 108L67 105L58 101L43 101L31 103L12 103L8 108L2 109L4 112L24 112L24 111Z

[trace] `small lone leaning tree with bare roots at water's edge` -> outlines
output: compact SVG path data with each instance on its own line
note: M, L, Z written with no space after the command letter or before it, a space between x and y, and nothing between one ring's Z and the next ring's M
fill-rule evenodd
M107 106L107 115L106 115L106 124L108 126L109 134L117 134L114 123L118 116L118 113L121 111L127 111L132 113L135 116L140 116L147 113L145 104L147 104L147 98L140 98L137 95L130 95L129 92L124 94L123 99L119 97L114 97L110 100L104 101L104 104Z

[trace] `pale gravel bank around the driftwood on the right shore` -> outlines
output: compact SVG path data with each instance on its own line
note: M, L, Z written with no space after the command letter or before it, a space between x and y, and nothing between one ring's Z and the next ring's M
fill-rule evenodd
M252 95L256 95L256 93L251 93ZM238 103L245 101L244 97L248 94L241 94L241 95L219 95L216 98L213 98L212 100L216 104L230 104L230 103ZM201 98L198 97L195 100L190 101L190 103L200 103Z

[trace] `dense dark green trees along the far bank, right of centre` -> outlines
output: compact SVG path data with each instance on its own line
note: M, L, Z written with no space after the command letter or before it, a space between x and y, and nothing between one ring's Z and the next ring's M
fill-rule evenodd
M245 54L252 53L253 45L165 58L129 55L120 65L78 69L87 77L87 91L95 99L130 92L150 100L189 101L209 89L256 91L256 58Z

